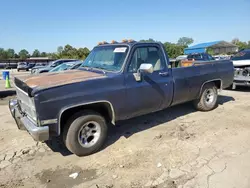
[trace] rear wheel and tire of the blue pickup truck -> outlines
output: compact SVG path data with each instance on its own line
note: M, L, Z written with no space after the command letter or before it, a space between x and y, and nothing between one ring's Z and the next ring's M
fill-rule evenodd
M196 99L193 104L199 111L210 111L216 107L217 98L217 87L214 83L208 83L203 86L199 99Z

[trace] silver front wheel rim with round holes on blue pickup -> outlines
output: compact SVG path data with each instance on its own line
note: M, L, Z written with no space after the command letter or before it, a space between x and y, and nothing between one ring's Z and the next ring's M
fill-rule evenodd
M79 130L78 141L84 148L89 148L96 144L101 135L101 126L95 121L85 123Z

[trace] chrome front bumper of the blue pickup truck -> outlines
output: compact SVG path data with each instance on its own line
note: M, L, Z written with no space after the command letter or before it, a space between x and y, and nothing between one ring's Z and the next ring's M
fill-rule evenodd
M12 117L15 119L18 129L27 130L28 133L36 141L49 140L49 127L38 127L33 123L18 106L17 99L11 99L9 101L9 109Z

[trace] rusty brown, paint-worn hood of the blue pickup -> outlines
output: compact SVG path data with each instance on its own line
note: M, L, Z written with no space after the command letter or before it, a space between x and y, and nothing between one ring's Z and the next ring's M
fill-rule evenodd
M30 89L41 90L104 77L106 75L103 73L85 70L67 70L64 72L49 72L34 76L15 77L15 84L19 88L24 85ZM26 91L26 89L23 90Z

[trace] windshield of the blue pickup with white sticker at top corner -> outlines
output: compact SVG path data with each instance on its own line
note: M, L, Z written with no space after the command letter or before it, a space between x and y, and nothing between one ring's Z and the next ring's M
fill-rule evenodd
M100 46L94 48L81 67L119 71L128 53L127 46Z

